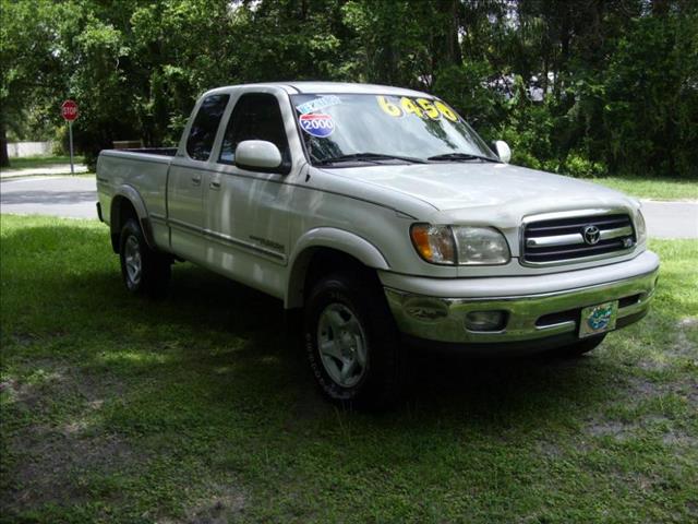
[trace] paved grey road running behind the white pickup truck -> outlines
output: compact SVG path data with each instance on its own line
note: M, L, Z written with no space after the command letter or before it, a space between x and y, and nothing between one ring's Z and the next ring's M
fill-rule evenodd
M92 177L34 177L0 182L2 213L96 218ZM642 202L651 237L698 238L698 202Z

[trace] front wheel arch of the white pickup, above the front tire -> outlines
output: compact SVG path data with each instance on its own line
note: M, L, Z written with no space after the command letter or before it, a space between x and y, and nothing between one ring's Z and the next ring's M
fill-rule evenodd
M344 229L320 227L301 237L289 261L284 305L301 308L310 282L330 270L389 270L384 254L369 240Z

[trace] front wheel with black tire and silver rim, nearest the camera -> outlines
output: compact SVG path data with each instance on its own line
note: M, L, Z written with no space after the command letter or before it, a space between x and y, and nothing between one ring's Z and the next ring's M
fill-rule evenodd
M382 409L399 398L406 355L373 275L321 278L305 305L303 344L313 377L333 403Z

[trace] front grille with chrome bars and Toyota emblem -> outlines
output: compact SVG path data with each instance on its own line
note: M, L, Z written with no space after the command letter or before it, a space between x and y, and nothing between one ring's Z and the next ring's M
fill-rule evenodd
M595 215L530 222L524 226L522 260L551 264L622 254L635 246L628 215Z

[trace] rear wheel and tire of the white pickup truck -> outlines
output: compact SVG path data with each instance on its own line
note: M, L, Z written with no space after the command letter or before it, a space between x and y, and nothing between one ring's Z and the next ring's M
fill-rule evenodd
M141 225L134 218L129 218L121 228L119 259L121 276L130 293L153 298L167 294L171 260L148 247Z

